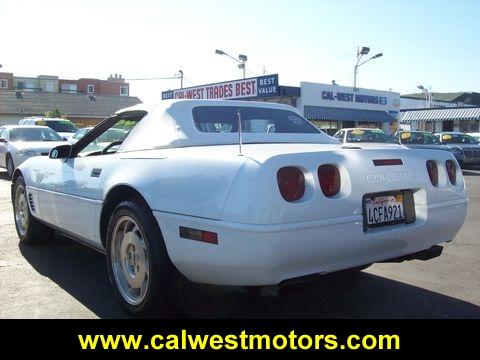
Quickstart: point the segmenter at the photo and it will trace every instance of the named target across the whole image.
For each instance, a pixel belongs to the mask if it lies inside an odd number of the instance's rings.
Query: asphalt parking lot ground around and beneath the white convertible
[[[480,318],[480,168],[464,171],[468,215],[441,257],[374,264],[260,298],[185,290],[182,316],[232,318]],[[20,246],[10,182],[0,171],[0,318],[125,318],[104,256],[66,238]],[[175,315],[172,315],[175,316]]]

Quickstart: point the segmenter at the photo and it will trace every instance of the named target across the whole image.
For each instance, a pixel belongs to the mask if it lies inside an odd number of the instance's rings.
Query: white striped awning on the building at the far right
[[[400,114],[401,122],[444,120],[480,120],[480,107],[409,110]]]

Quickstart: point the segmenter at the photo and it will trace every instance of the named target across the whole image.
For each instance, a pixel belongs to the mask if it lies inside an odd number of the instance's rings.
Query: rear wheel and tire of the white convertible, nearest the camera
[[[125,219],[131,219],[136,223],[135,225],[139,229],[140,236],[143,238],[144,251],[142,254],[145,254],[147,259],[147,265],[144,265],[144,268],[148,267],[148,277],[144,276],[143,280],[146,284],[146,291],[143,297],[141,295],[138,296],[138,303],[132,303],[131,299],[129,301],[128,293],[125,295],[125,290],[123,292],[121,290],[122,288],[125,289],[125,286],[122,287],[122,283],[128,283],[129,280],[127,280],[125,270],[122,273],[119,267],[121,268],[122,264],[125,268],[130,265],[125,265],[129,260],[121,260],[121,256],[118,254],[118,251],[121,250],[117,249],[117,247],[120,248],[117,243],[120,240],[118,240],[118,236],[116,239],[114,234],[119,233],[119,227],[122,225],[122,222],[128,221]],[[126,233],[126,227],[127,225],[122,230],[124,234]],[[134,230],[131,230],[131,232],[133,233]],[[135,231],[137,234],[139,232]],[[123,239],[125,239],[125,236]],[[123,244],[125,241],[121,240],[120,243]],[[128,246],[131,246],[131,244],[122,245],[121,248],[128,248]],[[136,254],[136,249],[135,247],[133,248],[134,254]],[[181,282],[181,275],[170,261],[158,223],[152,214],[152,210],[143,199],[122,201],[115,207],[108,224],[106,250],[108,275],[114,294],[122,307],[130,314],[138,317],[171,317]],[[125,253],[128,253],[128,251],[125,251]],[[133,258],[138,259],[138,256],[134,255]],[[136,268],[135,263],[133,268]],[[133,275],[129,279],[133,281]],[[141,294],[142,291],[139,291]]]

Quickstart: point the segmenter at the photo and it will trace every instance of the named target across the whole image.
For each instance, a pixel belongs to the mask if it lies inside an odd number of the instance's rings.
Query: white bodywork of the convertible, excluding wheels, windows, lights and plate
[[[448,180],[442,164],[454,160],[449,152],[342,149],[323,133],[273,134],[267,140],[265,134],[244,134],[239,156],[238,134],[195,129],[191,110],[203,105],[296,111],[241,101],[159,106],[115,154],[25,162],[19,170],[34,199],[33,215],[102,251],[104,201],[115,187],[129,186],[152,209],[170,259],[183,275],[245,286],[408,255],[451,241],[463,224],[466,189],[459,168],[457,184]],[[262,136],[264,143],[251,143]],[[373,159],[401,159],[403,165],[379,167]],[[438,187],[429,180],[427,160],[440,164]],[[316,172],[322,164],[336,164],[341,173],[341,191],[333,198],[319,186]],[[306,191],[297,202],[280,195],[276,174],[284,166],[304,172]],[[93,169],[101,169],[98,177],[92,177]],[[414,193],[416,221],[364,232],[362,197],[405,189]],[[215,232],[218,245],[181,238],[180,226]]]

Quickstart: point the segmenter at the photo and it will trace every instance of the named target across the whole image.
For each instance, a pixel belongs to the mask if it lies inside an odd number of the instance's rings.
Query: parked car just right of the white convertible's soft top
[[[339,140],[345,146],[355,146],[362,148],[404,148],[396,144],[381,129],[371,128],[345,128],[337,131],[333,137]]]

